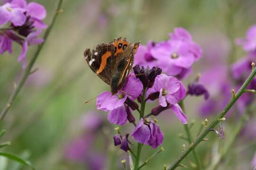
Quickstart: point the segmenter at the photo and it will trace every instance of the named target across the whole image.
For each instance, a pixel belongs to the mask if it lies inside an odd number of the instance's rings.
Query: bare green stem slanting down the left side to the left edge
[[[47,28],[46,30],[46,33],[44,34],[44,37],[43,39],[45,40],[44,42],[42,42],[38,48],[37,48],[37,51],[36,53],[34,54],[34,56],[32,57],[32,59],[29,61],[28,65],[27,65],[27,68],[25,69],[25,72],[24,74],[22,75],[19,83],[18,83],[18,86],[17,88],[14,90],[14,92],[11,94],[6,106],[4,107],[4,109],[2,110],[1,114],[0,114],[0,121],[2,121],[5,117],[5,115],[8,113],[8,111],[10,110],[10,108],[12,107],[13,105],[13,102],[15,101],[18,93],[20,92],[21,88],[23,87],[23,85],[25,84],[26,80],[27,80],[27,77],[30,75],[30,72],[31,72],[31,69],[32,67],[34,66],[36,60],[37,60],[37,57],[40,53],[40,51],[42,50],[45,42],[46,42],[46,39],[48,37],[48,35],[50,34],[53,26],[54,26],[54,23],[55,23],[55,20],[56,20],[56,17],[58,16],[59,14],[59,10],[61,9],[61,5],[62,5],[62,2],[63,0],[58,0],[56,2],[56,10],[55,10],[55,15],[53,16],[52,20],[51,20],[51,23],[49,24],[49,27]]]

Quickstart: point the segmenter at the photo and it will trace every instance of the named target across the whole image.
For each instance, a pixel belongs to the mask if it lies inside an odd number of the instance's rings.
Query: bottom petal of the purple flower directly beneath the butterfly
[[[125,125],[127,122],[127,112],[124,106],[111,110],[108,114],[108,119],[115,125]]]

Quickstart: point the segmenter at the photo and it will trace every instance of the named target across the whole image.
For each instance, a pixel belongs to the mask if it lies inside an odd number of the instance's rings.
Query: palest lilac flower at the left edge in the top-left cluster
[[[0,25],[10,21],[14,26],[22,26],[26,21],[24,12],[26,9],[19,8],[15,3],[6,3],[0,6]]]

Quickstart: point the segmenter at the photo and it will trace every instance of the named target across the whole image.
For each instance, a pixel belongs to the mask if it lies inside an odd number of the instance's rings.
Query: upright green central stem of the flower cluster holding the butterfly
[[[146,96],[146,88],[143,88],[139,119],[144,117],[145,104],[146,104],[145,96]],[[140,144],[140,143],[138,143],[138,145],[137,145],[137,155],[136,155],[136,159],[135,159],[134,170],[138,170],[139,159],[140,159],[140,153],[141,153],[142,146],[143,146],[143,144]]]

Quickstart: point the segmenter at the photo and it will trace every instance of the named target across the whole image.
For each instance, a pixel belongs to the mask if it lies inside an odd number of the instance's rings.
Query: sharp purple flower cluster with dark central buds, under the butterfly
[[[149,115],[157,116],[161,111],[171,109],[178,119],[184,124],[187,123],[187,116],[183,113],[178,105],[185,94],[186,90],[182,82],[174,76],[161,74],[160,68],[149,67],[140,68],[136,65],[134,68],[135,75],[130,75],[126,79],[125,85],[116,94],[103,92],[97,98],[97,109],[109,111],[108,119],[116,125],[125,125],[128,121],[136,127],[131,136],[142,144],[147,144],[156,148],[163,143],[164,134],[160,127],[148,116],[141,115],[137,102],[153,101],[158,99],[159,106],[164,109],[153,108]],[[141,119],[136,125],[136,119],[133,116],[133,110],[138,110]],[[157,114],[156,114],[157,112]],[[114,144],[119,145],[124,151],[129,150],[128,134],[121,136],[120,133],[115,135]]]

